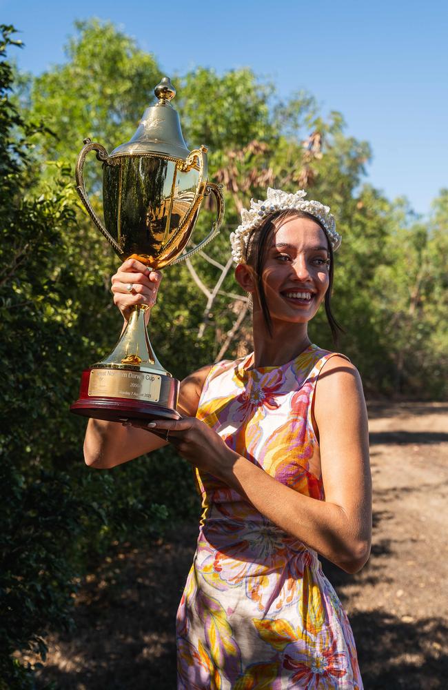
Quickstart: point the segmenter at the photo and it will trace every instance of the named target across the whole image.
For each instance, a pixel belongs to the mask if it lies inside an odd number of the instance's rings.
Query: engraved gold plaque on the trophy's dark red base
[[[143,371],[92,369],[89,395],[159,402],[161,376]]]

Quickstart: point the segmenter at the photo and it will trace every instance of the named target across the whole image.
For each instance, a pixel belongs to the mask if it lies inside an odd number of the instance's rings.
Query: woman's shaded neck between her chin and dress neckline
[[[254,319],[254,367],[286,364],[310,344],[307,324],[272,324],[271,336],[264,322]]]

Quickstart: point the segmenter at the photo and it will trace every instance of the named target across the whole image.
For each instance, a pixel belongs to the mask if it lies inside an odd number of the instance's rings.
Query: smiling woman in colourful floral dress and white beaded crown
[[[356,368],[307,334],[324,301],[338,328],[340,236],[327,206],[268,189],[231,240],[254,353],[187,377],[177,422],[90,420],[85,460],[112,467],[170,442],[196,467],[203,516],[177,616],[180,689],[359,689],[352,631],[317,555],[349,573],[368,558],[367,414]],[[134,260],[119,268],[124,319],[154,304],[160,278]]]

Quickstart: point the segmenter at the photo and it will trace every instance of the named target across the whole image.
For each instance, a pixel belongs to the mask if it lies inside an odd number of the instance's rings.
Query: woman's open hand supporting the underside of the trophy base
[[[196,417],[156,420],[142,428],[172,443],[185,460],[215,477],[222,477],[223,470],[228,469],[234,460],[231,449],[221,436]]]

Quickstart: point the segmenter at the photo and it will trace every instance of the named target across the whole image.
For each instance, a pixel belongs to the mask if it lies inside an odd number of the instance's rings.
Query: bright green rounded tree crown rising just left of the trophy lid
[[[41,141],[49,159],[73,159],[85,137],[110,150],[130,139],[161,77],[154,57],[112,23],[77,21],[75,28],[65,46],[68,61],[32,87],[34,115],[55,135]]]

